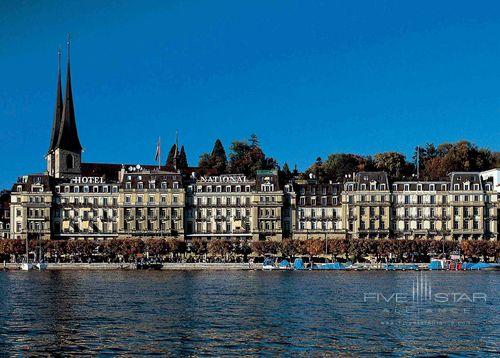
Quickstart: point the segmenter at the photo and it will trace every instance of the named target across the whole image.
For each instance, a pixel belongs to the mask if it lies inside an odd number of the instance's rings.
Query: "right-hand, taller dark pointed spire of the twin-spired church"
[[[61,116],[61,126],[56,149],[65,149],[72,152],[81,152],[82,146],[78,138],[76,128],[75,108],[73,105],[73,92],[71,91],[71,70],[70,70],[70,39],[68,36],[68,64],[66,73],[66,93],[64,96],[64,107]]]

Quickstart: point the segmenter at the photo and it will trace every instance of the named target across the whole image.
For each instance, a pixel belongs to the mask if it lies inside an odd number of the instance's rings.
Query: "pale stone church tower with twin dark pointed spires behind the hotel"
[[[47,154],[47,170],[56,178],[71,178],[81,174],[82,146],[76,128],[73,92],[71,90],[70,42],[68,39],[68,63],[66,72],[66,93],[62,111],[60,106],[60,70],[58,74],[58,90],[56,98],[56,113],[52,127],[52,137]],[[60,114],[60,119],[58,116]]]

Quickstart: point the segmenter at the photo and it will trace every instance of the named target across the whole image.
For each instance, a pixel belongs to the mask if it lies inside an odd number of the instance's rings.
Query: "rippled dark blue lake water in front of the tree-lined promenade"
[[[0,272],[0,351],[493,355],[500,352],[499,277],[498,272]]]

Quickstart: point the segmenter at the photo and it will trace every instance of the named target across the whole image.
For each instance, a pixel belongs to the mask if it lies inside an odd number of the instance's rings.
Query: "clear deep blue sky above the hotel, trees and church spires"
[[[426,142],[500,149],[495,1],[2,1],[0,187],[44,170],[67,32],[85,161],[152,163],[176,129],[190,164],[254,132],[299,169]]]

